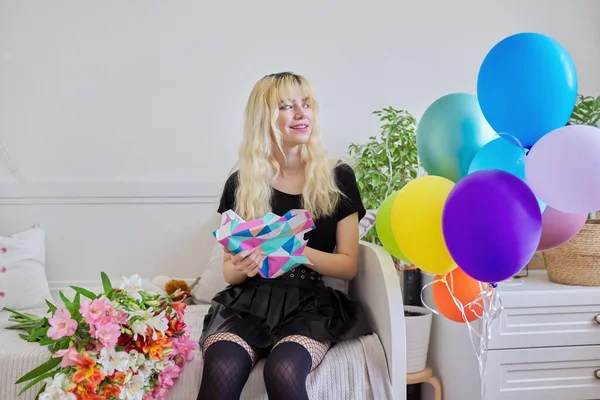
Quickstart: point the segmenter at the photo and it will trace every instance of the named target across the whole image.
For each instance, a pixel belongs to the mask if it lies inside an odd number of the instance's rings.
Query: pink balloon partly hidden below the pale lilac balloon
[[[571,214],[547,206],[542,213],[542,239],[537,251],[549,250],[571,240],[579,233],[588,214]]]

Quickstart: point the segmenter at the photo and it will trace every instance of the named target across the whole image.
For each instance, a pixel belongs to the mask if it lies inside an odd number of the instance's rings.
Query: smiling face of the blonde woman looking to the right
[[[310,138],[313,112],[304,94],[294,90],[279,106],[277,127],[284,147],[306,144]]]

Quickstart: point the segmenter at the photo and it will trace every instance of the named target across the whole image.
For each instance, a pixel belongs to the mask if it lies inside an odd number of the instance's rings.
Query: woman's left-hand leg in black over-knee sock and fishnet
[[[239,400],[258,359],[238,335],[215,333],[202,345],[204,368],[197,400]]]

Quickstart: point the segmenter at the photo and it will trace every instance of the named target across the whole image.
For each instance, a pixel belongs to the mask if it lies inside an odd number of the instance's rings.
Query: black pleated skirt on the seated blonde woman
[[[338,343],[373,333],[361,305],[322,281],[254,277],[217,293],[204,318],[200,345],[218,332],[269,349],[290,335]]]

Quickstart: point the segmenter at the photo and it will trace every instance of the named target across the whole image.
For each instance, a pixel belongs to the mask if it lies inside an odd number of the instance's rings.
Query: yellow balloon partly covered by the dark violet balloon
[[[429,175],[407,183],[392,206],[392,232],[406,257],[430,274],[456,268],[442,231],[442,212],[454,182]]]

